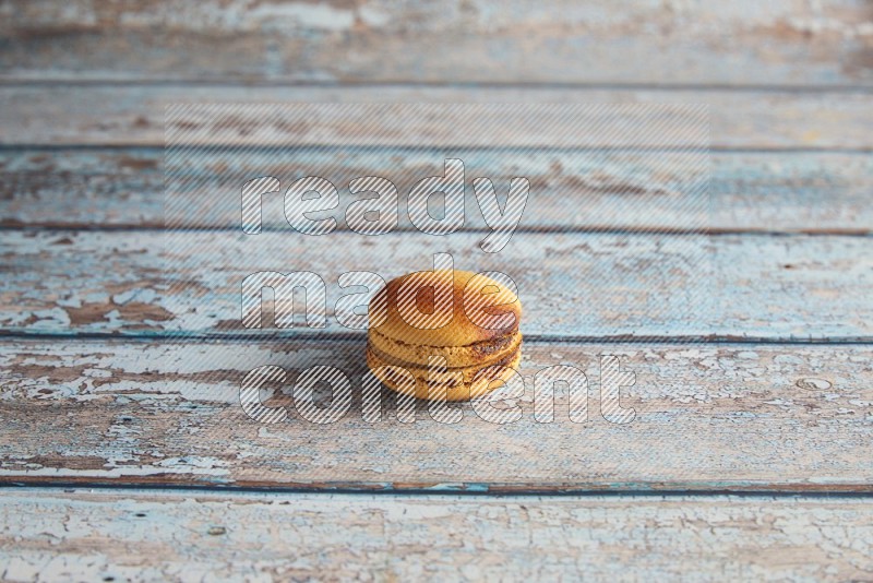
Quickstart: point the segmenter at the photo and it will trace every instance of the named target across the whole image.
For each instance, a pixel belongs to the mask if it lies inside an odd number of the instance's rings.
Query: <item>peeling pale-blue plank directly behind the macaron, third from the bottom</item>
[[[533,336],[847,341],[873,332],[868,237],[516,233],[485,253],[486,235],[8,230],[0,325],[23,334],[348,334],[334,317],[351,293],[337,284],[342,273],[388,279],[432,269],[433,253],[447,252],[456,269],[511,276]],[[299,301],[295,328],[243,329],[241,282],[264,270],[322,277],[326,328],[304,328]]]

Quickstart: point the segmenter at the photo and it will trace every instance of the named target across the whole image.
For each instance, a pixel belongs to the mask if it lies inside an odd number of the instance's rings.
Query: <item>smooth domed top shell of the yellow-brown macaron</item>
[[[423,346],[467,346],[516,333],[522,304],[513,290],[486,275],[434,270],[388,282],[370,300],[371,325],[379,323],[382,313],[384,322],[374,330],[387,338]]]

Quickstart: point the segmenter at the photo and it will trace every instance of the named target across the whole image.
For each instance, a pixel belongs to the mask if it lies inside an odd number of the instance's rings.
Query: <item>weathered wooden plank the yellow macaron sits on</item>
[[[469,404],[447,425],[419,403],[399,423],[385,390],[364,420],[363,341],[28,341],[0,343],[0,479],[375,490],[873,491],[873,346],[528,342],[514,423]],[[619,355],[631,423],[600,416],[599,355]],[[588,377],[587,423],[559,389],[553,423],[534,417],[533,379],[564,364]],[[286,407],[264,425],[240,383],[280,366],[263,398]],[[300,370],[344,371],[354,398],[331,424],[295,408]],[[272,396],[270,396],[272,394]],[[492,417],[493,418],[493,417]]]

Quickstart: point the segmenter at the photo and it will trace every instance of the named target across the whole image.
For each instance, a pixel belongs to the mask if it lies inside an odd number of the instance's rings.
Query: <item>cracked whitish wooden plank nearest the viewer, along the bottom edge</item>
[[[864,580],[868,500],[7,489],[7,581]]]

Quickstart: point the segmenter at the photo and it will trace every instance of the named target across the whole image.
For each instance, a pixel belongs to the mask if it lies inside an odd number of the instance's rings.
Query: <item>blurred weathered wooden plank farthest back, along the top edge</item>
[[[873,83],[863,0],[624,0],[457,5],[386,0],[3,9],[12,79],[268,82]]]

